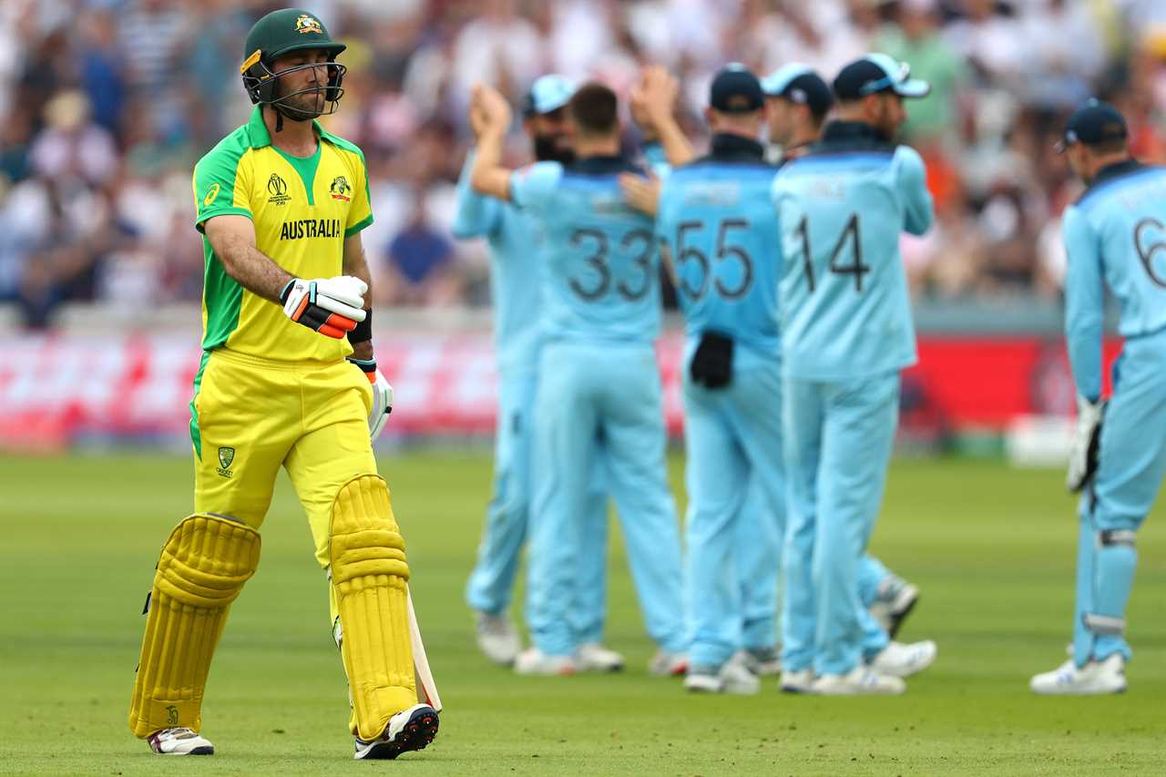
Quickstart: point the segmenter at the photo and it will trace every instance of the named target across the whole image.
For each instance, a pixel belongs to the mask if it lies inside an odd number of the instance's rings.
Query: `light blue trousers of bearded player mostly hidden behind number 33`
[[[510,607],[519,556],[531,519],[534,370],[499,376],[498,429],[494,436],[493,496],[478,545],[478,560],[465,587],[475,610],[498,614]],[[580,559],[578,587],[570,621],[582,642],[600,642],[606,603],[607,496],[598,463],[592,468],[588,506],[588,548]]]

